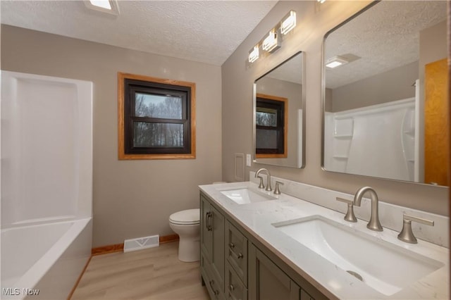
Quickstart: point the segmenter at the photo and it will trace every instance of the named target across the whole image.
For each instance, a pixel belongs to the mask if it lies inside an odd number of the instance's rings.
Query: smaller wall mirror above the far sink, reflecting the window
[[[304,167],[304,55],[254,82],[254,162]]]

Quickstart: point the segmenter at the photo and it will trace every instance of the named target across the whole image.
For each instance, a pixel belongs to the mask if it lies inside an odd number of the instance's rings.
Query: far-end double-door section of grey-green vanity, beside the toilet
[[[203,195],[201,213],[201,275],[211,299],[224,299],[224,216]]]

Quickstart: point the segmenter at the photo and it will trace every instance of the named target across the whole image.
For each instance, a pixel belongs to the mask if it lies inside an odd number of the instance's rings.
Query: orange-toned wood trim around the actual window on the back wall
[[[190,122],[191,122],[191,151],[189,154],[125,154],[125,99],[124,80],[142,80],[157,82],[166,85],[179,85],[190,87]],[[196,84],[180,80],[168,80],[144,75],[134,75],[118,72],[118,159],[119,160],[145,160],[145,159],[194,159],[196,158]]]

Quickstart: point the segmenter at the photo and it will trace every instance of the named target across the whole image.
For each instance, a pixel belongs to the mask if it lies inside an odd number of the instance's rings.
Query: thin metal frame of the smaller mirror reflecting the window
[[[295,58],[295,56],[301,55],[301,60],[302,60],[302,80],[300,82],[300,84],[302,85],[302,94],[301,94],[301,108],[302,108],[302,130],[301,132],[299,132],[299,134],[301,135],[301,139],[302,139],[302,146],[301,146],[301,151],[302,151],[302,163],[299,165],[299,162],[297,165],[279,165],[277,163],[266,163],[265,161],[261,161],[262,159],[273,159],[273,158],[257,158],[257,154],[256,154],[256,146],[257,146],[257,130],[256,130],[256,120],[257,120],[257,81],[259,81],[261,78],[265,77],[266,75],[268,75],[269,73],[271,73],[273,70],[276,70],[278,67],[280,67],[280,65],[283,65],[284,63],[287,63],[288,61],[290,61],[292,58]],[[297,168],[297,169],[302,169],[305,168],[305,89],[306,89],[306,68],[305,68],[305,52],[304,51],[297,51],[295,54],[292,54],[292,56],[284,59],[281,63],[279,63],[278,65],[276,65],[276,67],[272,68],[271,70],[269,70],[268,72],[264,73],[264,75],[261,75],[260,77],[258,77],[256,80],[254,80],[254,85],[253,85],[253,92],[252,92],[252,101],[253,101],[253,106],[252,106],[252,154],[253,154],[253,163],[258,163],[261,165],[276,165],[279,167],[285,167],[285,168]],[[288,106],[288,110],[290,109],[290,106]],[[288,141],[287,141],[288,142]],[[277,158],[276,158],[277,159]]]

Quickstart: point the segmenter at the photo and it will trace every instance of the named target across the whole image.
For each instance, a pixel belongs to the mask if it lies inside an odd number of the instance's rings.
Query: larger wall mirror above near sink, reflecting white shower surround
[[[447,185],[447,1],[377,1],[323,44],[323,169]]]

